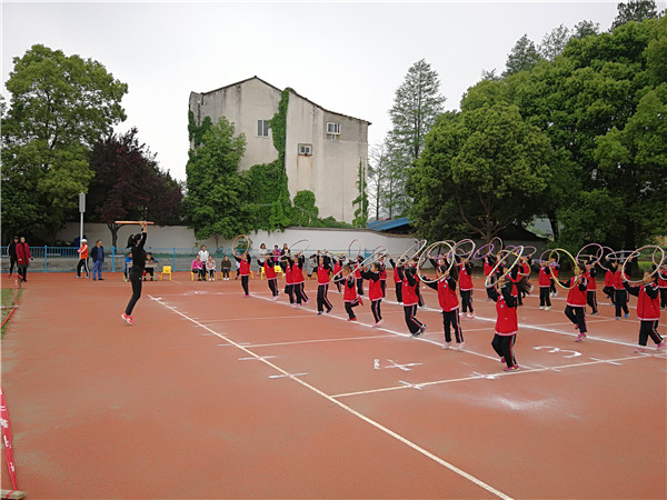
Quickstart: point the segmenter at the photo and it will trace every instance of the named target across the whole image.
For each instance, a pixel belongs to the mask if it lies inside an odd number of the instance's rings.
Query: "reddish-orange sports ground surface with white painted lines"
[[[130,327],[119,274],[29,278],[2,340],[29,498],[667,497],[666,354],[634,353],[633,309],[601,304],[575,343],[561,298],[528,298],[506,373],[480,282],[456,351],[430,289],[412,339],[392,283],[374,329],[332,291],[317,317],[313,281],[296,310],[266,281],[243,299],[177,273],[145,283]]]

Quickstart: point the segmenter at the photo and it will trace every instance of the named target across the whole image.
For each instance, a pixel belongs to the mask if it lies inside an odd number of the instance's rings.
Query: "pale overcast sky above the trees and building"
[[[369,147],[390,129],[396,89],[419,59],[458,109],[481,70],[505,69],[524,33],[536,43],[581,20],[607,30],[616,1],[598,2],[8,2],[2,82],[36,43],[102,63],[128,83],[128,119],[163,170],[186,178],[188,98],[252,76],[331,111],[370,121]],[[657,2],[660,9],[665,1]],[[4,86],[2,93],[9,96]]]

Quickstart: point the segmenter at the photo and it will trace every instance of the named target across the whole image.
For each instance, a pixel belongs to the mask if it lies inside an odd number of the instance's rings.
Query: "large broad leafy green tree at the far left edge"
[[[94,60],[41,44],[13,64],[2,121],[2,221],[6,229],[54,233],[93,177],[90,148],[126,119],[127,84]],[[20,200],[26,210],[17,210]]]

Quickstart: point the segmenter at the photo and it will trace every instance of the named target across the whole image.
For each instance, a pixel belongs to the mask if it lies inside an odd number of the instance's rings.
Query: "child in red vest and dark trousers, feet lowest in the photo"
[[[500,362],[507,364],[505,371],[517,371],[519,366],[514,354],[519,320],[517,318],[517,298],[511,294],[514,283],[506,279],[498,292],[498,283],[491,289],[491,300],[496,302],[496,330],[491,347],[500,357]]]

